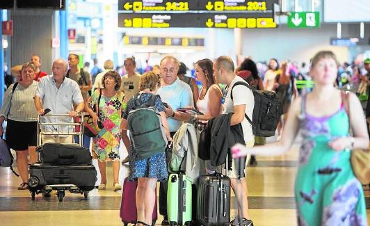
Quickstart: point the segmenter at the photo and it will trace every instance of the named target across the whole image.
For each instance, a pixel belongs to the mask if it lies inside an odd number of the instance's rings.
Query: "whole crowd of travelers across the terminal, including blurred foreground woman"
[[[198,60],[193,70],[189,70],[177,58],[164,56],[151,71],[139,74],[132,56],[124,60],[124,75],[113,70],[112,60],[104,62],[104,70],[99,68],[97,60],[90,72],[78,65],[79,56],[70,54],[67,60],[55,60],[52,73],[47,75],[40,70],[40,56],[34,54],[29,63],[12,68],[16,79],[15,83],[8,84],[5,92],[0,123],[7,121],[6,142],[17,154],[17,169],[22,178],[19,190],[28,188],[28,165],[37,161],[38,115],[44,115],[45,109],[49,109],[51,114],[69,115],[59,119],[60,122],[73,122],[79,113],[86,112],[92,116],[96,127],[102,127],[93,139],[84,135],[82,142],[83,147],[91,147],[93,158],[98,160],[102,177],[99,189],[108,187],[106,162],[111,161],[113,191],[121,190],[120,166],[128,162],[129,180],[138,181],[138,225],[152,224],[157,181],[160,182],[162,225],[169,225],[168,165],[172,155],[169,147],[175,133],[183,122],[191,122],[198,129],[219,115],[230,115],[227,127],[240,125],[243,134],[243,145],[234,143],[236,146],[232,149],[234,158],[246,160],[239,161],[241,166],[238,167],[243,172],[237,172],[235,161],[230,161],[231,165],[225,168],[200,160],[200,174],[227,171],[241,219],[233,220],[232,225],[253,225],[248,209],[248,186],[252,185],[247,186],[244,179],[248,163],[257,164],[255,155],[287,152],[298,131],[303,137],[295,186],[298,224],[339,225],[339,220],[345,220],[348,224],[344,225],[352,225],[350,222],[356,220],[353,225],[367,225],[362,185],[351,170],[350,152],[344,150],[365,149],[369,145],[364,111],[369,118],[370,58],[361,65],[339,65],[332,52],[320,51],[309,64],[298,67],[289,60],[279,62],[271,58],[264,64],[255,63],[249,57],[240,65],[234,65],[229,56],[220,56],[214,60]],[[193,71],[193,76],[189,71]],[[307,86],[298,87],[297,81],[307,81]],[[252,118],[256,104],[254,93],[247,86],[234,86],[240,82],[248,83],[255,90],[271,90],[278,95],[282,117],[276,143],[266,144],[264,136],[254,135],[247,119]],[[311,82],[314,86],[309,85]],[[352,92],[344,95],[343,90]],[[351,114],[344,107],[346,102],[351,103]],[[129,115],[133,109],[147,103],[156,108],[169,145],[143,159],[129,133]],[[47,122],[49,118],[42,120]],[[348,134],[350,129],[351,135]],[[200,132],[201,129],[198,138]],[[2,135],[3,127],[0,127]],[[125,159],[119,153],[121,140],[128,152]],[[42,143],[51,142],[77,143],[78,139],[73,136],[42,137]],[[320,168],[338,169],[325,174],[318,170]],[[339,206],[341,210],[337,209]]]

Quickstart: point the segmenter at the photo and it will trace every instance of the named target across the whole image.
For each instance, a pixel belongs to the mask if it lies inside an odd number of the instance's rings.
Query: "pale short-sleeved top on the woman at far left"
[[[18,83],[14,93],[12,93],[13,86],[14,84],[10,85],[8,90],[5,92],[5,98],[3,106],[1,106],[0,115],[17,122],[37,121],[38,112],[36,111],[33,97],[38,88],[38,82],[33,81],[33,83],[31,83],[27,88],[24,88],[20,83]]]

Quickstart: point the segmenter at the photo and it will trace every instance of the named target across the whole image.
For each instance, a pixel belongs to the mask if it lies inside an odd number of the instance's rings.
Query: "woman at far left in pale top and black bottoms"
[[[9,86],[4,95],[3,106],[0,111],[0,124],[4,120],[8,122],[6,129],[6,143],[17,154],[17,169],[22,178],[19,190],[28,189],[27,181],[28,156],[30,163],[36,161],[35,146],[37,145],[36,127],[38,113],[33,104],[33,97],[38,88],[38,82],[34,81],[36,67],[33,63],[24,63],[18,83]],[[13,87],[17,84],[14,92]],[[3,127],[0,127],[0,136],[3,135]]]

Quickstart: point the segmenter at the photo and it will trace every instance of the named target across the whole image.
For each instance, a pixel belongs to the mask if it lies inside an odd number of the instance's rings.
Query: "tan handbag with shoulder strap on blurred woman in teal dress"
[[[344,101],[344,108],[350,116],[348,95],[344,92],[341,93]],[[351,150],[351,166],[353,173],[361,184],[370,184],[370,147],[367,150],[353,149]]]

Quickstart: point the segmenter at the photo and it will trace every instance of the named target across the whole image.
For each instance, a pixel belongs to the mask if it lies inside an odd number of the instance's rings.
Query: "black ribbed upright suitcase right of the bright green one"
[[[199,177],[198,225],[230,225],[230,178],[216,173]]]

